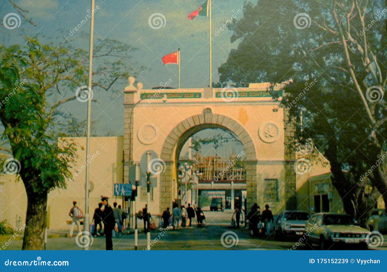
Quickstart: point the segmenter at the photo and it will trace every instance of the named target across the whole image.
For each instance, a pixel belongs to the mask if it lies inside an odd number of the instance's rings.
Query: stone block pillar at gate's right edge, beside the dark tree
[[[296,160],[296,152],[293,148],[293,138],[296,133],[295,126],[293,125],[295,120],[289,118],[289,111],[284,110],[284,129],[285,129],[285,142],[284,142],[284,171],[285,171],[285,199],[286,210],[297,209],[297,188],[296,188],[296,172],[293,169],[294,162]]]

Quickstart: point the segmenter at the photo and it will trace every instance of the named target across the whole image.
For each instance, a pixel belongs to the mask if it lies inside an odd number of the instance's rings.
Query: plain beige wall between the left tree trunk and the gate
[[[68,138],[70,140],[71,138]],[[48,195],[48,224],[50,230],[68,229],[66,220],[70,219],[68,212],[72,207],[72,201],[77,201],[78,206],[85,212],[85,175],[86,170],[86,138],[75,138],[78,146],[78,159],[76,165],[70,171],[74,175],[73,181],[67,181],[66,189],[55,189]],[[90,193],[89,215],[90,221],[94,208],[98,207],[101,195],[109,196],[110,205],[113,205],[113,184],[122,183],[122,137],[93,137],[90,141],[90,181],[94,189]],[[78,173],[75,175],[75,173]],[[118,197],[118,204],[122,198]]]

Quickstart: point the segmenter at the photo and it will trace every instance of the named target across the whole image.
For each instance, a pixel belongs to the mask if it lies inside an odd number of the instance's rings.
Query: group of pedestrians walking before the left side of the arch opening
[[[170,208],[167,207],[161,215],[162,221],[160,222],[160,227],[166,229],[168,226],[172,226],[173,229],[178,230],[179,227],[188,227],[192,226],[192,220],[197,218],[197,227],[203,226],[203,220],[205,219],[204,213],[200,207],[194,209],[190,203],[188,203],[187,207],[184,205],[180,206],[177,203],[173,204],[172,213],[170,212]]]

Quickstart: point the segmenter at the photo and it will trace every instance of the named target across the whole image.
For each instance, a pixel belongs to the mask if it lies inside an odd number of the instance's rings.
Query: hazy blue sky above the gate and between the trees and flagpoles
[[[23,9],[29,10],[27,17],[37,24],[31,26],[22,21],[20,28],[5,32],[6,44],[23,44],[23,33],[38,37],[57,37],[60,30],[70,31],[87,15],[91,1],[88,0],[14,0]],[[134,60],[144,67],[137,77],[144,84],[144,89],[159,86],[172,79],[171,86],[177,87],[177,65],[163,65],[161,58],[181,50],[181,87],[201,88],[209,84],[209,19],[198,16],[188,20],[190,12],[198,9],[204,0],[96,0],[99,9],[95,12],[94,38],[111,38],[138,48]],[[231,44],[231,31],[219,28],[233,16],[241,18],[238,12],[244,0],[213,0],[212,1],[212,37],[213,37],[213,81],[219,77],[217,68],[226,61],[231,48],[236,48],[238,41]],[[255,4],[256,1],[253,1]],[[15,12],[8,1],[0,9],[1,18],[9,12]],[[164,26],[152,29],[148,19],[152,14],[160,13],[165,17]],[[89,31],[87,22],[80,31]],[[80,34],[74,33],[74,37]],[[214,33],[218,31],[219,34]],[[7,35],[9,34],[9,35]],[[41,38],[41,40],[43,40]],[[43,40],[44,42],[44,40]],[[54,41],[55,42],[55,41]],[[59,43],[59,41],[58,41]],[[80,45],[88,48],[88,42]],[[195,71],[194,73],[192,71]],[[118,94],[111,95],[96,91],[94,98],[99,103],[92,105],[92,119],[97,119],[95,132],[103,135],[110,132],[113,135],[123,134],[123,96],[120,90],[127,85],[122,81],[114,86]],[[85,103],[86,104],[86,103]],[[85,108],[79,108],[76,102],[63,106],[78,119],[86,119]]]

